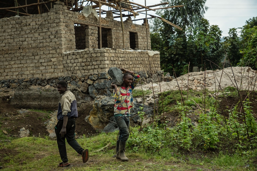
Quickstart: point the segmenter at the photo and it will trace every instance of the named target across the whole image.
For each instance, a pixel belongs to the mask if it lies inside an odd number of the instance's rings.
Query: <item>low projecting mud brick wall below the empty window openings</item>
[[[149,56],[150,51],[120,49],[92,49],[64,52],[62,55],[63,71],[67,74],[108,72],[109,68],[127,68],[129,70],[160,71],[160,54]],[[152,51],[151,51],[152,52]]]

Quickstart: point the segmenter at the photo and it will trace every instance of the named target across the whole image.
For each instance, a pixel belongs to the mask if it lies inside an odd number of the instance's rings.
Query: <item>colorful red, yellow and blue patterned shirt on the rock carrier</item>
[[[115,90],[113,90],[113,97],[115,99],[114,113],[130,114],[130,110],[134,109],[132,90],[136,87],[141,77],[136,73],[133,73],[132,75],[134,79],[130,86],[127,88],[118,86],[117,94],[115,93]]]

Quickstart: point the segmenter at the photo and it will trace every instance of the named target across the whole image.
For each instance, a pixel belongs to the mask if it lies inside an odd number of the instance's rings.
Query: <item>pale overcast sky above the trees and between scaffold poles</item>
[[[159,4],[160,1],[146,0],[146,6]],[[134,2],[145,5],[145,0],[134,0]],[[257,0],[207,0],[205,5],[209,7],[205,12],[205,19],[210,25],[218,25],[222,36],[228,36],[229,29],[242,27],[245,21],[257,17]],[[145,18],[145,15],[136,17],[139,18]]]

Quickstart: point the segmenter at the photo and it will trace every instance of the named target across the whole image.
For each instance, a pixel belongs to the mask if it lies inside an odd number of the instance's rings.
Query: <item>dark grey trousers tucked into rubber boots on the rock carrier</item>
[[[126,142],[129,138],[129,116],[117,116],[115,121],[120,129],[118,141]]]

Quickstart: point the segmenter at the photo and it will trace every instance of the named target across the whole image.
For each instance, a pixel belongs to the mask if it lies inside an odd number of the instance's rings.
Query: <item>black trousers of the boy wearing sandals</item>
[[[65,145],[65,138],[68,142],[68,144],[75,150],[77,153],[82,154],[83,148],[80,147],[78,142],[75,140],[75,128],[76,128],[76,119],[68,119],[68,123],[66,125],[66,134],[64,137],[61,137],[61,129],[63,126],[63,120],[59,120],[56,128],[55,128],[55,134],[57,138],[57,144],[59,153],[61,156],[61,160],[63,162],[67,162],[67,152],[66,152],[66,145]]]

